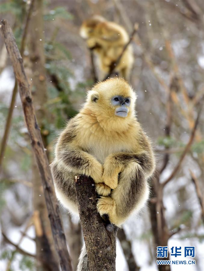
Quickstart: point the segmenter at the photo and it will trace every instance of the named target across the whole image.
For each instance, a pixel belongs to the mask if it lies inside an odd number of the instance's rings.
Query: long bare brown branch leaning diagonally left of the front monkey
[[[23,59],[18,50],[12,30],[6,20],[2,20],[1,32],[5,38],[6,49],[11,59],[14,74],[18,82],[25,121],[42,179],[48,216],[51,222],[56,251],[60,259],[60,266],[62,271],[69,271],[72,270],[71,260],[66,246],[59,206],[54,192],[52,175],[48,166],[48,159],[44,150],[40,129],[32,104],[32,96],[28,80],[23,67]]]

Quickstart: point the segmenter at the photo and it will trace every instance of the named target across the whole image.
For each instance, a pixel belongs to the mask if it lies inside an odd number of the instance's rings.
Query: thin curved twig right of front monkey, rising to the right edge
[[[202,109],[202,108],[201,108],[201,109]],[[183,153],[181,154],[181,157],[180,157],[180,159],[179,159],[179,161],[178,161],[178,164],[176,165],[175,169],[172,171],[171,175],[170,175],[170,176],[162,183],[163,186],[165,186],[169,181],[171,181],[171,179],[174,178],[174,176],[177,174],[177,172],[178,172],[178,170],[180,169],[181,164],[182,164],[182,162],[183,162],[183,160],[184,160],[184,158],[185,158],[187,152],[188,152],[189,149],[190,149],[191,144],[193,143],[193,139],[194,139],[194,137],[195,137],[196,129],[197,129],[197,126],[198,126],[198,121],[199,121],[199,116],[200,116],[201,109],[200,109],[199,112],[198,112],[196,121],[195,121],[195,123],[194,123],[194,127],[193,127],[193,129],[192,129],[192,131],[191,131],[190,139],[189,139],[189,141],[188,141],[188,143],[187,143],[187,145],[186,145],[186,147],[185,147]]]

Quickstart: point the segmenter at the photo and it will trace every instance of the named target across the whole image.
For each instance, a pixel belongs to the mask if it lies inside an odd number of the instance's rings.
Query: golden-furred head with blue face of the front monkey
[[[115,77],[96,84],[88,93],[86,105],[100,123],[109,122],[116,127],[122,122],[128,124],[132,119],[135,100],[131,86],[124,79]]]

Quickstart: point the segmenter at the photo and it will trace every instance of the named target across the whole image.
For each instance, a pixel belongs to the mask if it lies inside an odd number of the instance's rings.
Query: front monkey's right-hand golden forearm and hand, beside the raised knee
[[[110,154],[104,162],[102,181],[111,189],[115,189],[118,186],[118,175],[122,170],[122,164],[119,163],[112,154]]]

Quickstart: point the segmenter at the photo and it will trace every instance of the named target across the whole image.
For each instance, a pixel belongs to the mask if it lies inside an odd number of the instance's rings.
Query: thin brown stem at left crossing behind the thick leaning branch
[[[27,36],[27,32],[28,32],[28,25],[29,25],[30,15],[31,15],[31,11],[32,11],[32,8],[33,8],[33,1],[34,0],[31,1],[30,6],[29,6],[25,26],[24,26],[24,29],[23,29],[23,36],[22,36],[21,44],[20,44],[20,54],[21,54],[22,57],[23,57],[23,52],[24,52],[24,48],[25,48],[25,42],[26,42],[26,36]],[[4,134],[3,134],[2,142],[1,142],[0,168],[1,168],[1,165],[2,165],[2,160],[3,160],[3,157],[4,157],[6,144],[7,144],[7,140],[8,140],[8,135],[9,135],[10,127],[11,127],[11,120],[12,120],[12,115],[13,115],[14,106],[15,106],[15,102],[16,102],[17,90],[18,90],[18,85],[17,85],[17,81],[15,80],[15,85],[14,85],[14,89],[13,89],[13,93],[12,93],[11,103],[10,103],[10,107],[9,107],[9,110],[8,110],[8,116],[7,116],[7,119],[6,119],[5,130],[4,130]]]

